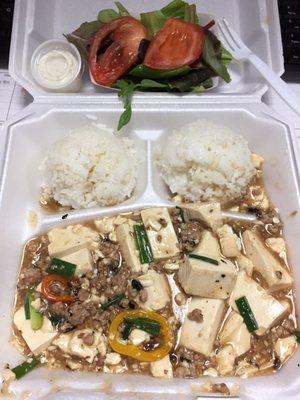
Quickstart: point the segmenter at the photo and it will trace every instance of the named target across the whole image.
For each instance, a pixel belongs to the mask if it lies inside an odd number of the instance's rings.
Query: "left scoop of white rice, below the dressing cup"
[[[74,209],[109,206],[130,197],[137,155],[130,139],[89,124],[56,142],[41,165],[44,192]]]

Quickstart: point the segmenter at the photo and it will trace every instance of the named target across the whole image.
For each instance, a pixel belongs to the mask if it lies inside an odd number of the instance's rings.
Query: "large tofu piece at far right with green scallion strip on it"
[[[251,279],[245,271],[240,271],[235,287],[229,299],[229,305],[238,312],[235,301],[245,296],[258,324],[257,335],[263,335],[268,329],[279,322],[289,311],[287,304],[280,303],[267,293],[257,282]]]

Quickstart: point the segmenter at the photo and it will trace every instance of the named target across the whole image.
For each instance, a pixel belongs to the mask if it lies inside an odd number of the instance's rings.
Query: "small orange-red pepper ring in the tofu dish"
[[[53,292],[53,286],[59,286],[62,289],[62,293],[69,286],[69,280],[62,276],[50,274],[46,275],[42,280],[42,293],[44,297],[49,301],[61,301],[63,303],[71,303],[74,301],[74,297],[70,294],[57,294]]]

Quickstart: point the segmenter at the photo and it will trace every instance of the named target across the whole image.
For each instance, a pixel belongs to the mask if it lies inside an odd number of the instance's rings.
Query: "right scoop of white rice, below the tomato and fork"
[[[171,192],[189,201],[235,199],[255,174],[246,140],[206,120],[174,130],[156,155]]]

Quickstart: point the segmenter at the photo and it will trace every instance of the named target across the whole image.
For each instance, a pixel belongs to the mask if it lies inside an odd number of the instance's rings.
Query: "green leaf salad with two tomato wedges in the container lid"
[[[214,77],[230,82],[232,56],[210,30],[213,20],[200,25],[195,4],[173,0],[139,18],[115,5],[65,37],[87,60],[93,83],[119,89],[118,130],[131,118],[134,91],[201,93]]]

